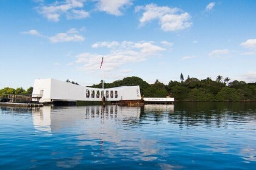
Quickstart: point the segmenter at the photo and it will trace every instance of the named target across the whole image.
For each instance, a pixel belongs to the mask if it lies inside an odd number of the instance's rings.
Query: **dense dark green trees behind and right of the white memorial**
[[[113,83],[104,83],[105,88],[118,86],[140,86],[142,97],[174,97],[176,101],[256,101],[256,83],[232,81],[221,75],[216,80],[207,77],[204,80],[190,78],[181,81],[169,81],[168,84],[156,80],[149,84],[139,77],[126,77]],[[102,81],[91,87],[102,88]]]

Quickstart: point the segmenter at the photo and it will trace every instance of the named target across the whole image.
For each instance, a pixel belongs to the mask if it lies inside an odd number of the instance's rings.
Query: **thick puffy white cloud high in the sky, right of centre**
[[[192,25],[192,22],[189,21],[191,16],[178,8],[158,7],[155,4],[137,6],[135,8],[135,12],[140,12],[141,10],[144,11],[143,16],[140,18],[141,25],[157,19],[161,29],[165,32],[188,29]]]

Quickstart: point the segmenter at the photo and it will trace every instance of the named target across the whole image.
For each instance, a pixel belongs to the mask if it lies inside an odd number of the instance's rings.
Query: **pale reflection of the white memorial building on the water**
[[[35,129],[38,131],[59,131],[60,129],[76,126],[78,121],[94,120],[104,123],[105,120],[115,119],[119,123],[129,123],[140,117],[140,107],[119,106],[86,106],[86,107],[54,107],[44,106],[32,110]]]

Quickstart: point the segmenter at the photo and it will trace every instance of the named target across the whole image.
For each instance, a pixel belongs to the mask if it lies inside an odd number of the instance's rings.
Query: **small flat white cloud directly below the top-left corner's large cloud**
[[[52,43],[84,41],[84,36],[78,35],[77,33],[79,32],[76,29],[70,29],[66,33],[57,33],[55,36],[49,37],[49,41]]]

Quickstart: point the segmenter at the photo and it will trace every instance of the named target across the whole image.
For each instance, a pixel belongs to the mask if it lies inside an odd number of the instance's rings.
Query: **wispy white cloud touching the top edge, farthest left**
[[[37,10],[49,21],[58,22],[61,15],[66,15],[67,19],[82,19],[89,16],[89,13],[83,10],[84,3],[85,0],[56,1],[50,5],[37,7]]]

